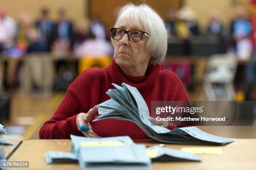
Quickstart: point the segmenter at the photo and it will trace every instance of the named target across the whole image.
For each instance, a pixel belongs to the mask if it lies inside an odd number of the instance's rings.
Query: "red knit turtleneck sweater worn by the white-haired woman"
[[[80,112],[88,112],[93,106],[110,97],[105,93],[115,89],[111,83],[121,85],[125,82],[136,87],[151,111],[151,101],[189,100],[182,82],[174,72],[160,70],[160,66],[148,67],[142,77],[125,76],[120,67],[112,61],[104,69],[90,68],[79,75],[69,86],[67,94],[50,120],[46,121],[39,132],[40,139],[69,139],[70,134],[83,134],[77,130],[76,117]],[[92,120],[98,115],[96,112]],[[148,136],[133,122],[106,119],[90,122],[92,130],[101,137],[129,135],[132,139],[145,139]],[[175,126],[169,127],[174,129]]]

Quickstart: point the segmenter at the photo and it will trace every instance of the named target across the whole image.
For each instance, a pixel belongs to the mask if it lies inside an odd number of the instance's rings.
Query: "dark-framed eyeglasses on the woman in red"
[[[126,30],[123,30],[121,28],[111,28],[110,31],[111,31],[111,37],[114,40],[121,40],[125,34],[128,35],[128,39],[131,42],[139,42],[139,41],[141,41],[141,39],[142,39],[144,34],[147,37],[149,37],[147,32],[140,31],[140,30],[129,30],[129,31],[126,31]]]

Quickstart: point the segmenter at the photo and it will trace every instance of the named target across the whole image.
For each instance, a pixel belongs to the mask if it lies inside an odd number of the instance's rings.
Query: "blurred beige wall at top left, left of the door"
[[[60,7],[67,10],[72,20],[79,20],[87,15],[87,0],[0,0],[0,6],[5,6],[8,14],[15,19],[22,10],[37,18],[41,7],[49,8],[52,19],[56,18],[56,12]]]

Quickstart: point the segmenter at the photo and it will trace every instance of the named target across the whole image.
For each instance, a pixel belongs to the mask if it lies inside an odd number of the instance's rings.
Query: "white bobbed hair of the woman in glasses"
[[[167,51],[167,33],[159,14],[146,4],[128,3],[121,8],[114,28],[118,28],[124,21],[132,23],[148,33],[146,48],[151,55],[149,65],[162,62]],[[113,39],[111,42],[114,45]]]

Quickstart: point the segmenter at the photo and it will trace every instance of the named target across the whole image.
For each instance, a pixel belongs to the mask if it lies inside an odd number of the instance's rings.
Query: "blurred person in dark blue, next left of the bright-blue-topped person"
[[[207,36],[211,39],[217,39],[223,36],[223,24],[216,10],[210,11]]]

